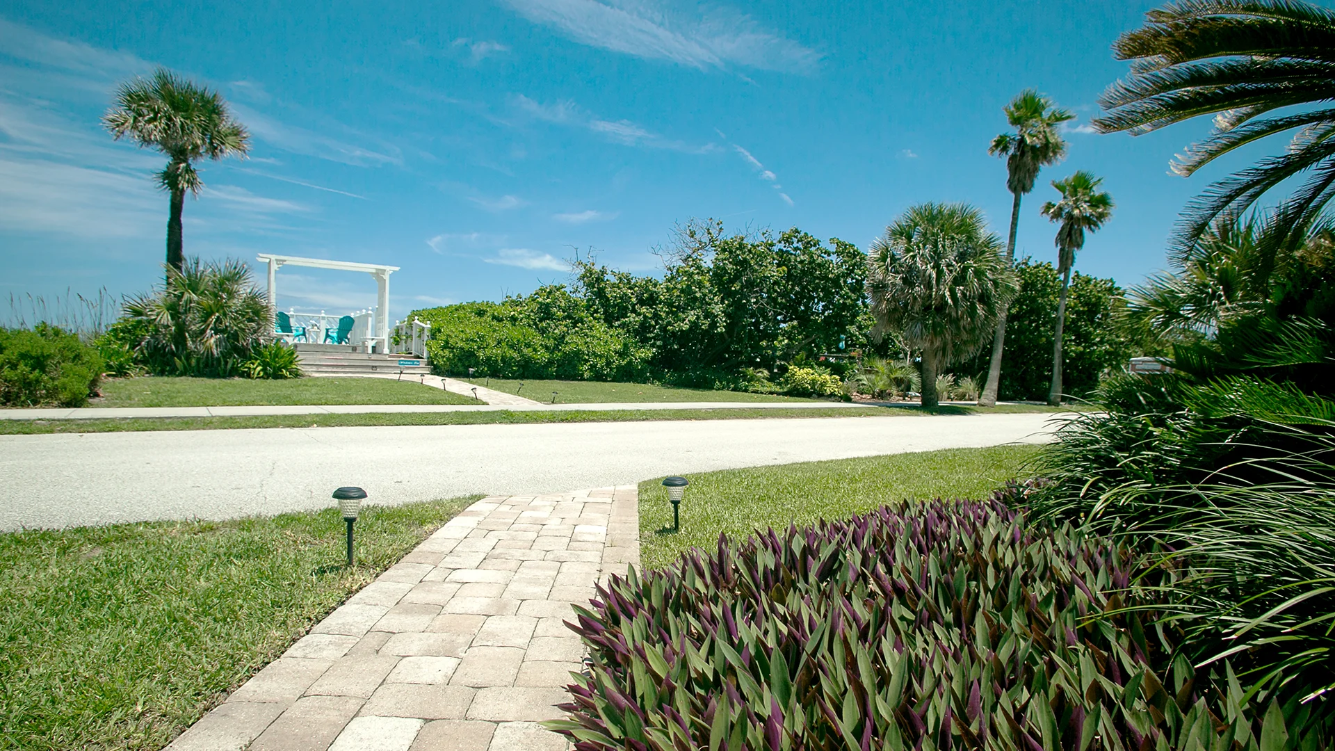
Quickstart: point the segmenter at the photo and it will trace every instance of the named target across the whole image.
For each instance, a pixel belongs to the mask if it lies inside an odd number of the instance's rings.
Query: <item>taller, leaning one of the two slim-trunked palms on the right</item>
[[[1067,143],[1061,140],[1057,126],[1073,118],[1065,110],[1057,110],[1047,96],[1025,90],[1005,106],[1005,119],[1015,132],[1001,134],[992,139],[988,154],[1005,156],[1005,187],[1013,196],[1011,202],[1011,235],[1005,245],[1007,263],[1015,262],[1015,235],[1020,229],[1020,198],[1033,190],[1041,167],[1056,164],[1067,155]],[[979,397],[980,406],[997,404],[997,386],[1001,382],[1001,353],[1005,349],[1007,309],[997,315],[996,337],[992,341],[992,362],[988,366],[988,381]]]

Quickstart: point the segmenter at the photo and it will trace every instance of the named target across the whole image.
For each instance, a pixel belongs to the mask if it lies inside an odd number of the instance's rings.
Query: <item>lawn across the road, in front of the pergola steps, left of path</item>
[[[88,406],[232,406],[322,404],[478,404],[431,386],[388,378],[111,378]]]

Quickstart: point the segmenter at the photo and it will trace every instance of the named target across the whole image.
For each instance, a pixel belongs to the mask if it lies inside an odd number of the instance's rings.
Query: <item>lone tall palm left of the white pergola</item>
[[[186,191],[199,195],[204,183],[195,171],[203,158],[222,159],[250,151],[250,134],[232,118],[216,92],[158,68],[148,80],[136,78],[116,90],[116,106],[101,116],[103,126],[120,140],[129,138],[140,147],[167,155],[167,167],[158,172],[158,186],[171,194],[167,219],[167,265],[180,271],[180,212]]]

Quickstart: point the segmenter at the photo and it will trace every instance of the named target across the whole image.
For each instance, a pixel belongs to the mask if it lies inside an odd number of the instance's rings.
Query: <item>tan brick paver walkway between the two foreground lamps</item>
[[[565,750],[537,724],[583,655],[562,621],[638,561],[634,485],[483,498],[167,750]]]

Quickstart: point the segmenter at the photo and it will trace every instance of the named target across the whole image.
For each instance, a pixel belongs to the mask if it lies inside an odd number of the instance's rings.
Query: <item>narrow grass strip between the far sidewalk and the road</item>
[[[1012,414],[1056,412],[1047,406],[943,406],[936,414]],[[91,420],[0,420],[0,436],[43,433],[117,433],[143,430],[230,430],[239,428],[358,428],[375,425],[533,425],[545,422],[642,422],[651,420],[760,420],[814,417],[926,416],[918,406],[869,409],[643,409],[557,412],[426,412],[362,414],[263,414],[251,417],[119,417]]]

